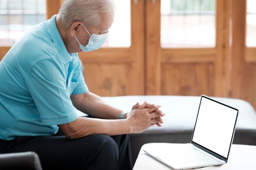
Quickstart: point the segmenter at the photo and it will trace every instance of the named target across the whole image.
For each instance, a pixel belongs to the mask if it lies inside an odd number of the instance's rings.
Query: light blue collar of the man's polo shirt
[[[55,44],[55,47],[61,57],[62,62],[65,64],[67,62],[71,62],[73,57],[68,53],[67,48],[61,38],[61,34],[58,31],[58,28],[56,26],[56,15],[53,15],[51,19],[47,21],[47,31],[49,32],[49,35],[52,38],[52,41]]]

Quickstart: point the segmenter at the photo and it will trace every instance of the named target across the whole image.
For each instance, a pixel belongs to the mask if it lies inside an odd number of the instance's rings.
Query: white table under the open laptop
[[[148,145],[155,147],[157,143],[144,144],[132,170],[172,170],[164,163],[150,157],[143,151]],[[159,144],[159,143],[158,143]],[[161,143],[162,145],[172,145]],[[255,170],[256,169],[256,146],[233,144],[227,163],[221,166],[210,166],[192,170]]]

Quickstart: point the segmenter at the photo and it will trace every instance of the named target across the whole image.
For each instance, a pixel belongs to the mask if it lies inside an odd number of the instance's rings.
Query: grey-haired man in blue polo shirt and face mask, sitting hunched
[[[81,51],[98,49],[112,0],[65,0],[58,15],[26,33],[0,62],[0,153],[36,152],[45,170],[130,170],[129,133],[161,126],[159,105],[129,113],[85,84]],[[81,110],[90,117],[79,117]]]

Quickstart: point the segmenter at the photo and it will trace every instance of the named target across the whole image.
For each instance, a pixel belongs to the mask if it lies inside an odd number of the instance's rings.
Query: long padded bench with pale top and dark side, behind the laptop
[[[200,104],[200,96],[139,95],[103,97],[110,105],[130,111],[136,102],[160,104],[166,114],[162,127],[153,126],[144,132],[130,134],[132,162],[135,163],[143,144],[151,142],[189,143]],[[233,144],[256,145],[256,112],[241,99],[210,97],[239,110]],[[217,125],[216,125],[217,126]]]

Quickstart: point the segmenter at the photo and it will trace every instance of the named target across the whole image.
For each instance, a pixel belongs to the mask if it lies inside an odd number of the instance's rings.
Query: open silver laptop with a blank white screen
[[[201,95],[189,144],[159,143],[143,150],[175,170],[222,165],[229,157],[238,113],[236,108]]]

